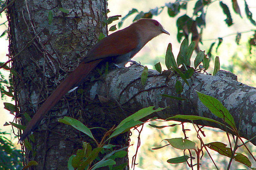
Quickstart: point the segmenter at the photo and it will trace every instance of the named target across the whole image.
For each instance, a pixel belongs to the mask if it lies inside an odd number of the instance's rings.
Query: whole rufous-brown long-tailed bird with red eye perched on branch
[[[22,142],[41,122],[44,115],[72,88],[79,85],[102,60],[115,64],[127,63],[151,39],[165,33],[163,26],[153,19],[139,19],[130,26],[100,40],[85,56],[79,66],[65,78],[37,110],[25,131]],[[71,90],[70,90],[71,91]]]

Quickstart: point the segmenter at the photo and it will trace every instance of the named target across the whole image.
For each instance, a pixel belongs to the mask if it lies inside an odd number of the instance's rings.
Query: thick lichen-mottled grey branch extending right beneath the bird
[[[181,97],[189,100],[177,101],[160,96],[160,94],[177,96],[174,87],[176,78],[174,76],[169,82],[166,82],[166,78],[156,70],[149,70],[148,80],[142,86],[140,82],[142,70],[143,68],[140,67],[113,70],[107,74],[105,83],[95,82],[91,87],[87,87],[84,90],[90,92],[92,100],[96,95],[105,96],[110,101],[118,101],[119,105],[130,113],[148,106],[156,106],[156,108],[169,106],[169,108],[157,112],[155,115],[150,115],[148,118],[157,116],[158,118],[166,119],[181,114],[208,117],[223,123],[199,100],[195,91],[197,90],[217,98],[234,117],[237,129],[241,117],[241,137],[249,140],[255,136],[256,88],[238,82],[235,74],[223,70],[217,72],[215,76],[194,73],[193,81],[191,79],[188,80],[190,87],[180,78],[184,87]],[[196,121],[196,123],[225,130],[224,127],[212,122]],[[251,142],[256,145],[256,139]]]

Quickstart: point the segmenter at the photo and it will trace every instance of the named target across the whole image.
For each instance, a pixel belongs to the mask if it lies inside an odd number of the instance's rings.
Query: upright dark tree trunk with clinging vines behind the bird
[[[9,51],[13,58],[12,68],[17,73],[13,74],[13,86],[21,124],[28,124],[24,113],[33,117],[68,72],[77,67],[97,43],[100,32],[107,34],[107,25],[103,25],[106,13],[107,0],[24,0],[15,1],[8,8]],[[105,121],[104,112],[87,108],[87,103],[83,94],[71,94],[44,118],[34,133],[35,139],[30,140],[31,148],[26,147],[26,162],[35,160],[38,163],[31,169],[67,169],[68,158],[82,148],[82,142],[93,143],[74,128],[58,123],[57,118],[81,119],[81,114],[85,113],[88,119],[84,119],[84,124],[113,126],[112,122]],[[100,140],[103,131],[94,131],[94,135]],[[118,137],[112,141],[113,145],[129,145],[128,135]],[[116,162],[121,164],[128,162],[127,159]]]

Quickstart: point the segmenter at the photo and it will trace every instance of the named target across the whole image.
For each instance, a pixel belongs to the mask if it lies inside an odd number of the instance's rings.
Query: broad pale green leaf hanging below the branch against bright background
[[[182,138],[172,138],[172,139],[164,139],[169,142],[170,145],[175,147],[176,149],[196,149],[196,143],[192,142],[188,139],[182,139]]]

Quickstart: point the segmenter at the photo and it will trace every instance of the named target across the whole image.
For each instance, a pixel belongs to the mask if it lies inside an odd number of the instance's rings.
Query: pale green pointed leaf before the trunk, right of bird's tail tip
[[[68,124],[76,128],[78,131],[83,132],[84,134],[88,135],[90,138],[92,138],[94,141],[95,138],[92,136],[92,132],[89,128],[87,128],[84,124],[82,124],[79,120],[76,120],[71,117],[64,117],[63,119],[58,119],[60,123]]]

